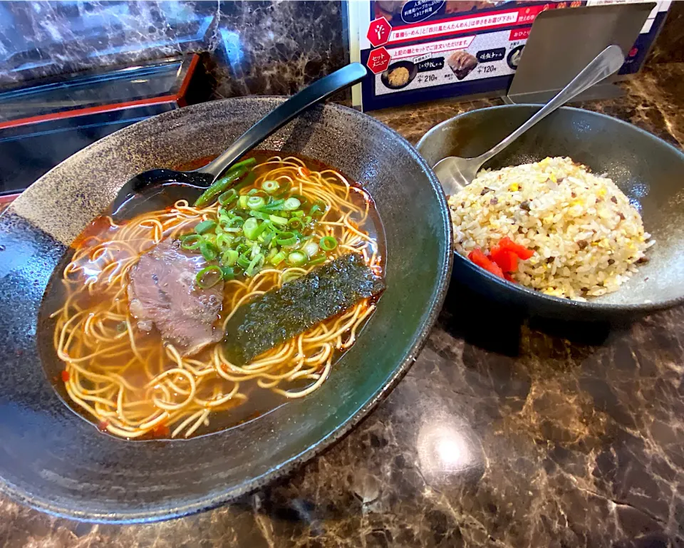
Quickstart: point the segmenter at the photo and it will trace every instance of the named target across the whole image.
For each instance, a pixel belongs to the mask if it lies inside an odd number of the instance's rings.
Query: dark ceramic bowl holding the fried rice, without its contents
[[[527,120],[538,105],[505,105],[472,110],[428,131],[418,151],[430,166],[455,155],[489,150]],[[608,177],[641,211],[655,239],[650,262],[618,291],[587,302],[547,296],[509,283],[455,254],[453,276],[529,314],[559,319],[606,320],[638,316],[684,300],[684,154],[651,133],[616,118],[564,107],[524,133],[484,167],[498,169],[569,156]]]

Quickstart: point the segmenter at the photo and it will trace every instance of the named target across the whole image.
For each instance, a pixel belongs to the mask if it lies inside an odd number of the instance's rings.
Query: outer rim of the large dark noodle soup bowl
[[[213,103],[226,103],[238,101],[269,102],[272,100],[279,100],[281,102],[286,99],[287,97],[282,95],[250,95],[245,97],[226,98],[217,101],[209,101],[207,103],[198,103],[197,105],[190,105],[188,107],[184,107],[182,109],[182,112],[192,115],[196,111],[202,112],[202,110],[211,110],[211,105]],[[418,163],[418,166],[425,173],[425,177],[427,177],[427,182],[429,183],[430,188],[432,189],[432,192],[434,193],[437,199],[439,208],[442,211],[441,230],[445,235],[446,242],[444,252],[443,254],[440,254],[440,257],[438,259],[441,263],[441,267],[439,271],[435,273],[435,276],[437,276],[437,283],[435,284],[435,287],[432,291],[430,301],[426,301],[425,303],[425,318],[418,324],[415,330],[415,334],[413,335],[413,342],[408,345],[408,351],[405,353],[404,358],[397,363],[397,366],[394,368],[393,372],[390,373],[388,380],[385,381],[385,383],[378,385],[378,388],[375,389],[375,391],[371,394],[366,403],[364,403],[360,408],[358,408],[358,410],[356,410],[356,412],[353,413],[353,415],[349,416],[346,420],[341,422],[337,428],[331,430],[331,432],[328,433],[328,435],[319,439],[316,443],[313,443],[308,447],[302,448],[299,451],[299,453],[291,457],[289,460],[281,462],[277,466],[271,467],[271,469],[266,471],[264,474],[253,477],[251,480],[246,480],[242,483],[239,483],[230,490],[225,489],[222,492],[216,493],[214,495],[207,493],[206,495],[195,497],[195,499],[191,501],[180,501],[180,504],[174,505],[173,507],[156,507],[153,510],[124,510],[122,512],[97,512],[94,510],[78,510],[78,505],[70,506],[68,502],[54,502],[53,500],[50,500],[47,497],[33,495],[31,492],[27,491],[23,487],[18,487],[14,484],[11,484],[2,477],[0,477],[0,494],[6,495],[11,500],[14,500],[24,505],[28,505],[29,507],[32,507],[36,510],[46,512],[49,515],[63,517],[67,519],[74,519],[78,522],[89,523],[95,522],[107,524],[143,524],[158,522],[165,519],[185,517],[187,515],[196,514],[198,512],[212,510],[216,507],[219,507],[220,505],[224,505],[227,502],[235,500],[237,497],[241,497],[243,495],[249,494],[250,492],[254,492],[255,490],[264,487],[265,485],[269,484],[270,482],[276,480],[279,477],[286,477],[291,472],[301,467],[301,465],[304,465],[305,462],[308,462],[312,458],[323,453],[324,450],[327,450],[331,447],[331,445],[341,440],[341,438],[343,438],[345,435],[351,432],[351,430],[353,430],[353,428],[355,428],[356,425],[361,423],[363,419],[367,418],[371,411],[374,410],[403,379],[403,377],[408,372],[410,367],[413,366],[413,363],[418,357],[418,353],[420,353],[420,351],[425,346],[425,343],[427,342],[427,337],[429,336],[430,331],[432,331],[432,327],[434,326],[435,321],[437,320],[437,316],[438,314],[440,314],[440,311],[442,309],[442,305],[445,301],[447,289],[449,287],[451,280],[451,272],[453,265],[453,231],[451,227],[449,207],[447,205],[446,196],[444,191],[442,190],[442,185],[440,185],[439,180],[437,180],[437,176],[434,172],[432,172],[430,166],[427,165],[425,159],[418,153],[415,147],[411,145],[411,143],[409,143],[408,140],[403,138],[402,135],[400,135],[398,132],[390,128],[388,125],[381,123],[379,120],[371,117],[366,113],[361,113],[356,109],[348,108],[344,105],[339,105],[337,103],[323,103],[322,105],[318,105],[318,108],[329,109],[341,115],[351,115],[354,117],[365,118],[366,123],[372,124],[373,126],[375,126],[375,128],[378,128],[378,130],[381,130],[385,133],[388,132],[390,134],[393,134],[396,143],[398,145],[403,145],[405,152],[408,152],[408,154],[411,157],[413,157],[413,160]],[[105,143],[108,143],[109,140],[115,138],[115,135],[118,135],[118,138],[120,138],[121,135],[125,135],[126,132],[130,131],[131,128],[133,128],[136,125],[147,125],[155,122],[158,123],[158,120],[165,120],[166,118],[173,119],[178,118],[179,116],[182,115],[179,115],[178,110],[171,110],[167,113],[162,113],[160,115],[147,118],[146,120],[141,120],[138,123],[122,128],[110,135],[105,136],[104,138],[96,141],[95,143],[88,145],[88,147],[83,148],[83,150],[76,152],[76,155],[86,155],[91,150],[93,150],[93,148],[96,148],[99,144],[101,144],[103,141]],[[152,122],[152,120],[155,120],[155,122]],[[73,155],[66,158],[66,160],[63,160],[63,162],[68,162],[71,159],[71,157],[73,157]],[[61,165],[63,162],[60,162],[59,165]],[[38,180],[36,180],[36,182],[41,182],[41,180],[43,180],[43,177],[45,177],[45,175],[39,177]],[[36,182],[34,182],[33,184],[35,185]],[[21,197],[19,197],[18,199],[21,200]],[[28,197],[26,197],[26,200],[28,200]],[[4,212],[4,214],[11,214],[12,210],[13,208],[9,207],[8,210]],[[14,214],[18,213],[14,212]],[[21,217],[21,215],[19,215],[19,217]],[[33,335],[33,338],[35,338],[35,335]]]

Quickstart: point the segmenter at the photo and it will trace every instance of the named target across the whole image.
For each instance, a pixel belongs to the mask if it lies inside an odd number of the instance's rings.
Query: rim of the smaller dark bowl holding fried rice
[[[437,125],[433,126],[427,132],[425,132],[425,135],[420,138],[418,141],[418,144],[415,145],[416,150],[420,153],[420,149],[424,145],[425,141],[427,141],[427,138],[430,137],[430,135],[433,132],[437,132],[440,130],[442,127],[445,127],[447,125],[450,125],[454,123],[457,120],[460,120],[460,118],[465,118],[468,115],[472,115],[473,113],[479,113],[484,110],[539,110],[541,107],[544,105],[540,104],[534,104],[534,103],[517,103],[514,105],[494,105],[491,107],[484,107],[484,108],[475,108],[473,110],[467,110],[465,113],[460,113],[452,118],[449,118],[448,120],[444,120],[443,122],[438,123]],[[684,165],[684,152],[678,148],[676,148],[674,145],[671,145],[667,141],[659,138],[657,135],[653,135],[653,133],[650,133],[642,128],[639,128],[636,125],[633,125],[629,122],[626,122],[625,120],[620,120],[619,118],[614,118],[613,116],[609,116],[607,114],[603,113],[597,113],[594,110],[587,110],[586,108],[577,108],[577,107],[569,107],[569,106],[562,106],[558,110],[564,110],[564,111],[571,111],[571,112],[576,112],[576,113],[582,113],[583,115],[591,115],[595,116],[596,118],[603,118],[606,120],[611,120],[611,123],[617,123],[618,125],[622,125],[623,128],[626,128],[628,131],[636,131],[637,133],[641,133],[644,137],[652,140],[658,141],[660,145],[665,145],[666,147],[670,148],[672,152],[674,152],[676,155],[680,157],[681,162]],[[432,168],[432,166],[430,166]],[[499,276],[495,276],[491,272],[487,272],[487,270],[483,269],[482,267],[478,267],[476,264],[472,263],[470,260],[467,259],[467,257],[463,257],[460,253],[454,250],[454,256],[455,256],[455,261],[460,261],[461,264],[465,265],[466,267],[472,268],[475,272],[478,274],[485,276],[489,280],[490,283],[497,284],[500,288],[502,288],[504,291],[511,291],[513,294],[516,294],[519,297],[522,297],[524,299],[532,299],[532,301],[537,301],[541,304],[556,304],[559,306],[566,306],[569,309],[576,309],[576,310],[581,310],[581,311],[586,311],[586,312],[591,312],[594,311],[596,314],[629,314],[629,313],[638,313],[638,314],[648,314],[650,312],[655,312],[658,310],[664,310],[664,309],[669,309],[672,308],[673,306],[676,306],[678,304],[681,304],[684,302],[684,294],[681,296],[675,297],[674,299],[668,299],[666,301],[654,301],[651,303],[643,303],[643,304],[605,304],[605,303],[597,303],[596,301],[574,301],[571,299],[563,299],[561,297],[556,297],[552,295],[546,295],[544,293],[541,293],[540,291],[534,291],[534,289],[528,289],[525,286],[519,285],[519,284],[514,284],[511,281],[507,281],[506,279],[499,278]]]

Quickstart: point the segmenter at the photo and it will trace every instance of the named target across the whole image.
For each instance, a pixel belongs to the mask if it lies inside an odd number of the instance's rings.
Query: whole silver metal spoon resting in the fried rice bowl
[[[539,122],[541,118],[551,114],[556,108],[564,105],[564,103],[567,103],[586,89],[591,88],[591,86],[594,86],[595,83],[600,82],[603,78],[616,73],[624,61],[625,56],[619,46],[608,46],[594,58],[594,61],[591,61],[589,65],[584,67],[581,73],[575,76],[558,95],[546,103],[532,118],[517,128],[511,135],[502,140],[501,143],[494,145],[484,154],[474,158],[449,156],[437,162],[432,167],[432,170],[435,171],[437,179],[442,183],[445,193],[453,195],[465,187],[465,185],[469,185],[475,179],[477,172],[480,171],[480,167],[482,167],[484,162],[487,162],[494,155],[504,150],[504,148],[519,138],[520,135]]]

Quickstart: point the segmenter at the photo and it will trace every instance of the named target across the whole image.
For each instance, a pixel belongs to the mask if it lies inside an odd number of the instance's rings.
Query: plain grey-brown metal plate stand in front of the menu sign
[[[611,44],[627,53],[655,6],[618,4],[542,12],[534,20],[524,53],[522,48],[518,52],[522,55],[504,103],[546,103]],[[573,102],[623,95],[614,84],[616,78],[596,84]]]

